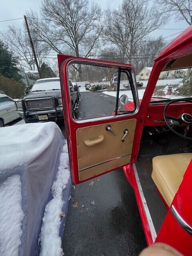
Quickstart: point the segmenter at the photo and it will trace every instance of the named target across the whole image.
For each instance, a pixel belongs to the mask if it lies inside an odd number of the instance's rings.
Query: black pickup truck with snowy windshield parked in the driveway
[[[80,92],[69,81],[73,115]],[[26,91],[27,92],[27,91]],[[35,82],[32,89],[16,102],[18,114],[26,123],[56,121],[63,118],[59,78],[44,78]]]

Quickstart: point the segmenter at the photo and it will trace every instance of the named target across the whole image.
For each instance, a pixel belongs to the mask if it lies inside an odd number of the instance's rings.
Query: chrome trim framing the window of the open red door
[[[67,81],[68,81],[68,88],[69,88],[69,78],[68,78],[68,66],[72,63],[72,62],[76,62],[76,63],[80,63],[80,64],[86,64],[86,65],[93,65],[93,66],[105,66],[107,68],[129,68],[127,66],[124,66],[124,64],[109,64],[107,62],[93,62],[90,60],[79,60],[79,59],[73,59],[70,60],[70,62],[68,62],[67,66],[66,66],[66,74],[67,74]],[[134,88],[134,96],[136,99],[136,108],[135,111],[132,113],[128,113],[128,114],[122,114],[122,115],[106,115],[106,116],[98,116],[98,117],[93,117],[93,118],[85,118],[85,119],[74,119],[72,116],[72,109],[70,109],[70,117],[71,120],[73,120],[73,122],[78,123],[78,124],[82,124],[82,123],[89,123],[89,122],[96,122],[96,121],[100,121],[100,120],[108,120],[111,118],[120,118],[120,117],[126,117],[126,116],[134,116],[138,113],[139,108],[140,108],[140,104],[139,104],[139,97],[138,97],[138,89],[137,89],[137,85],[136,85],[136,77],[134,75],[134,71],[132,68],[130,68],[131,74],[132,74],[132,80],[133,80],[133,88]],[[68,90],[68,97],[71,101],[70,98],[70,90]],[[115,104],[114,104],[114,109],[115,109]]]

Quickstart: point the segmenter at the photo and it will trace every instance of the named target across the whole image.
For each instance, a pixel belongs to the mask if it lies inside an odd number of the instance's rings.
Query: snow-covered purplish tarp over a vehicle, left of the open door
[[[62,191],[70,186],[62,132],[54,122],[22,124],[1,128],[0,138],[0,255],[62,252]]]

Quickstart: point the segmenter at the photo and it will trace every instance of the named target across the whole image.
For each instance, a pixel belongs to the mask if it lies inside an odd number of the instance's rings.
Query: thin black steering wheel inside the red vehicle
[[[169,116],[166,114],[166,110],[167,108],[175,102],[190,102],[192,103],[192,100],[185,100],[185,99],[176,99],[176,100],[172,100],[170,101],[164,108],[163,111],[163,116],[164,116],[164,120],[167,124],[167,126],[170,128],[170,130],[172,130],[172,132],[174,132],[176,135],[180,136],[181,138],[187,139],[187,140],[192,140],[192,137],[188,137],[185,136],[185,134],[188,132],[190,126],[192,126],[192,115],[188,114],[188,113],[183,113],[182,115],[180,115],[179,117],[174,117],[174,116]],[[184,135],[180,134],[179,132],[176,132],[176,130],[174,130],[174,126],[181,126],[182,124],[187,125],[185,130],[184,130]]]

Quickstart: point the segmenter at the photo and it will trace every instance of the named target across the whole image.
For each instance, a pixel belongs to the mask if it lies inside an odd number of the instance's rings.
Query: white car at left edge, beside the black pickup
[[[0,127],[19,118],[15,101],[6,94],[0,94]]]

